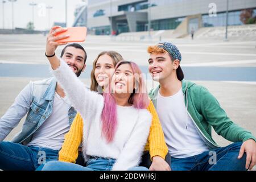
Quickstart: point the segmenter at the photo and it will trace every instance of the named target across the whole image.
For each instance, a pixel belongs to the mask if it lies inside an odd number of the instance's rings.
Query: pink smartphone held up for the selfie
[[[59,35],[69,35],[66,39],[57,40],[56,42],[65,43],[65,42],[84,42],[87,33],[86,27],[69,27],[67,31],[56,34]]]

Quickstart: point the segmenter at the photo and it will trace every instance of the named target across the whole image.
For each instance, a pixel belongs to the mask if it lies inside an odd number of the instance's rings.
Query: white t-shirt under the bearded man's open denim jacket
[[[61,98],[59,94],[55,92],[52,114],[32,135],[32,140],[27,146],[60,150],[64,142],[64,135],[69,131],[69,108],[70,104],[67,96]]]

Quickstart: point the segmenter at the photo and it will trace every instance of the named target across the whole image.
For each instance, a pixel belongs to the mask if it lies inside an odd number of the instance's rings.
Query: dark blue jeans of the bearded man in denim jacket
[[[46,162],[58,160],[58,152],[50,148],[0,142],[0,169],[9,171],[40,170]]]

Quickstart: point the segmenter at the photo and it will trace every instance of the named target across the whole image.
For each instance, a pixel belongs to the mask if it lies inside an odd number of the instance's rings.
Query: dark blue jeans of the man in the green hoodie
[[[188,158],[171,158],[171,169],[174,171],[245,171],[246,153],[241,159],[237,159],[241,144],[242,142],[233,143]],[[213,154],[216,154],[215,159]]]

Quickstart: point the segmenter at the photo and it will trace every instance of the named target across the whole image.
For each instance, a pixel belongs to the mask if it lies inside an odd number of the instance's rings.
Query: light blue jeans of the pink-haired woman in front
[[[91,158],[87,162],[87,166],[83,167],[78,164],[51,161],[46,163],[43,171],[111,171],[115,159]],[[146,167],[133,167],[128,171],[148,171]]]

